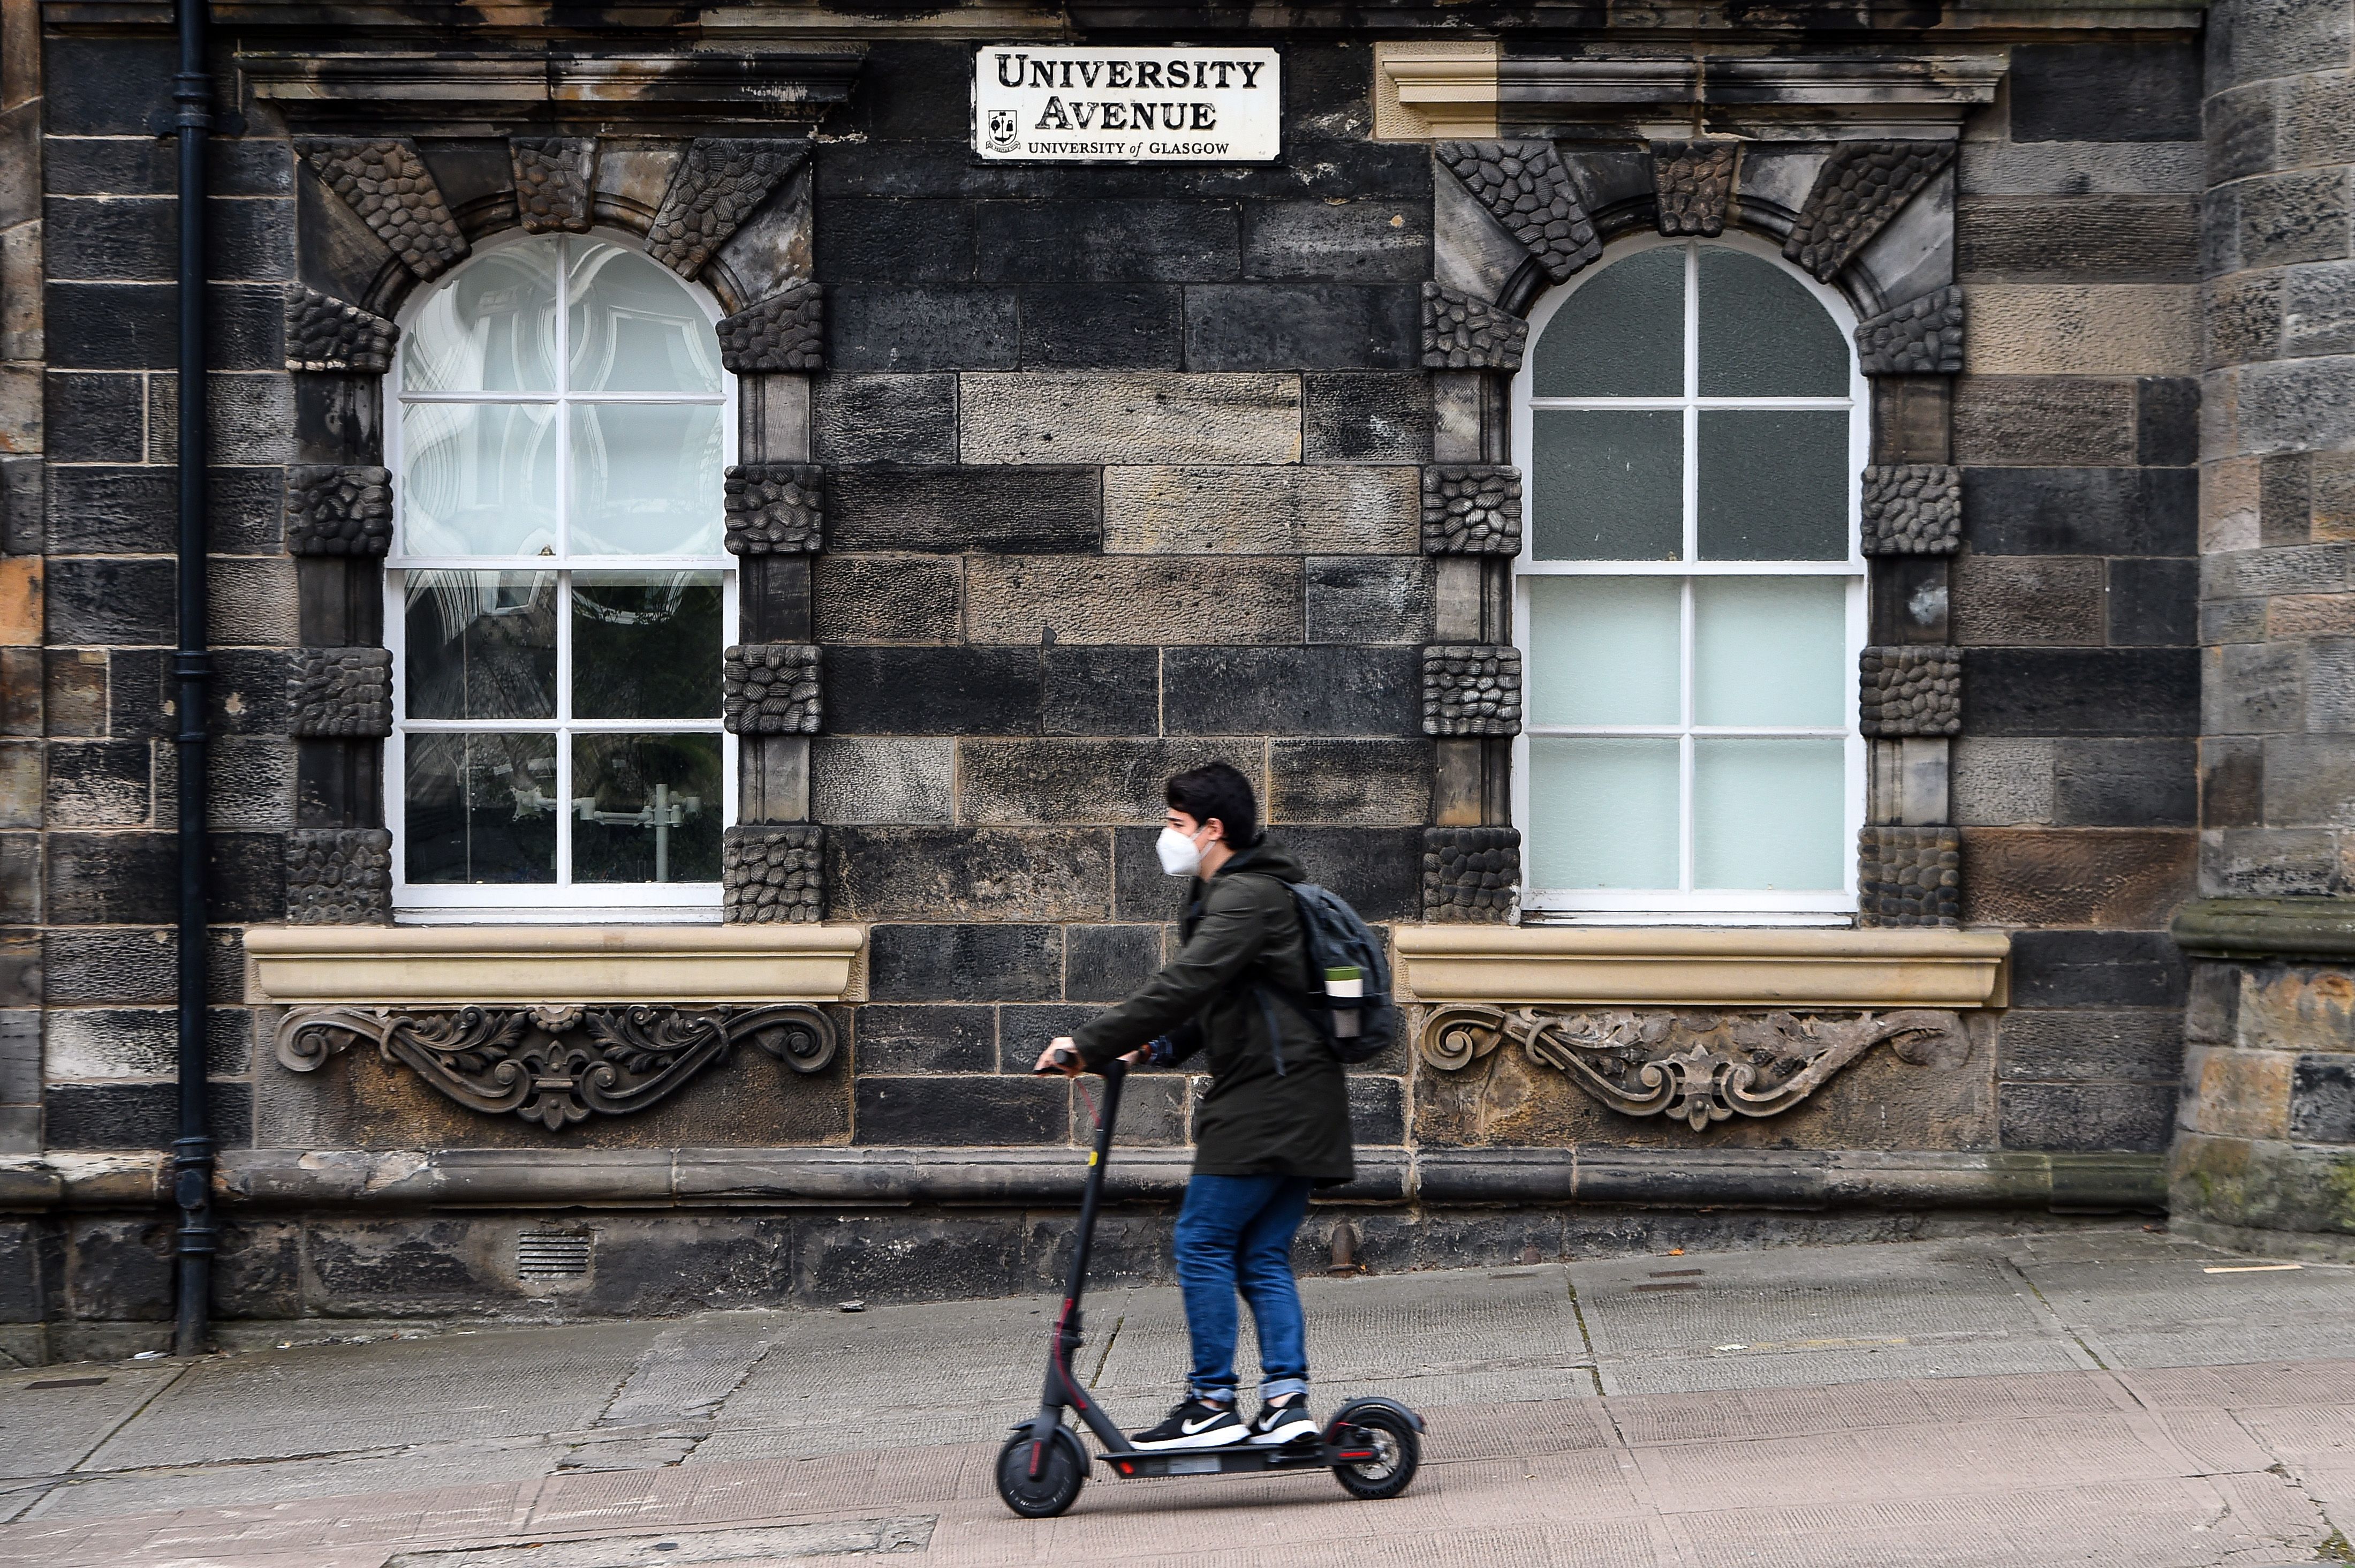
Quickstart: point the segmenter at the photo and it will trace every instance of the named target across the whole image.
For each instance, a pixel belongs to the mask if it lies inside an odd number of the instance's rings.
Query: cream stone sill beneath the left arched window
[[[252,1003],[841,1003],[864,925],[254,925]]]

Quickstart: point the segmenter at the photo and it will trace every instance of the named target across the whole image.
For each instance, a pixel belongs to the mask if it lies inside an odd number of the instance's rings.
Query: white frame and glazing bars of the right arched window
[[[1698,365],[1700,365],[1700,308],[1698,292],[1693,287],[1693,271],[1698,250],[1703,245],[1717,245],[1726,250],[1740,250],[1771,261],[1785,278],[1792,278],[1806,287],[1806,292],[1820,304],[1832,325],[1839,330],[1842,341],[1849,351],[1849,396],[1846,398],[1700,398],[1698,396]],[[1583,285],[1599,278],[1611,264],[1623,261],[1637,252],[1681,247],[1686,252],[1684,261],[1684,391],[1674,398],[1538,398],[1531,391],[1535,374],[1535,346],[1552,323],[1554,313],[1561,311]],[[1858,697],[1856,697],[1856,662],[1863,655],[1868,636],[1868,598],[1865,598],[1865,558],[1863,558],[1863,534],[1860,534],[1860,476],[1872,452],[1872,398],[1865,381],[1863,367],[1856,356],[1856,311],[1835,290],[1823,287],[1806,273],[1792,268],[1783,261],[1776,247],[1740,233],[1724,233],[1710,240],[1689,238],[1665,238],[1644,235],[1639,240],[1623,240],[1604,252],[1585,275],[1571,280],[1568,285],[1552,290],[1538,308],[1528,315],[1528,344],[1521,372],[1512,379],[1512,450],[1521,454],[1521,471],[1526,476],[1524,485],[1528,492],[1528,525],[1521,530],[1521,556],[1514,560],[1514,584],[1512,584],[1512,626],[1514,645],[1521,650],[1521,666],[1531,671],[1535,680],[1535,659],[1531,647],[1531,591],[1528,584],[1538,577],[1677,577],[1684,582],[1684,614],[1679,626],[1679,657],[1684,666],[1681,678],[1681,720],[1677,725],[1521,725],[1521,735],[1512,742],[1512,822],[1521,829],[1521,864],[1524,883],[1528,878],[1528,866],[1533,864],[1531,845],[1538,843],[1538,824],[1531,817],[1528,805],[1528,765],[1531,765],[1531,739],[1550,735],[1601,735],[1601,737],[1674,737],[1679,739],[1679,812],[1677,812],[1677,862],[1679,862],[1679,885],[1677,888],[1641,888],[1641,890],[1559,890],[1559,888],[1535,888],[1524,885],[1521,892],[1521,918],[1524,923],[1578,923],[1578,925],[1849,925],[1856,918],[1856,836],[1865,824],[1865,775],[1868,753],[1865,739],[1858,727]],[[1684,560],[1538,560],[1535,558],[1535,513],[1543,506],[1538,494],[1538,461],[1535,461],[1535,412],[1538,410],[1679,410],[1684,414]],[[1846,560],[1696,560],[1696,532],[1698,532],[1698,473],[1700,473],[1700,410],[1717,407],[1745,407],[1745,410],[1846,410],[1849,414],[1849,558]],[[1844,725],[1837,730],[1802,730],[1802,727],[1714,727],[1693,725],[1693,579],[1696,577],[1844,577],[1849,579],[1846,591],[1846,669],[1851,671],[1846,697],[1844,697]],[[1533,697],[1535,692],[1528,692]],[[1524,697],[1524,713],[1533,713],[1535,704]],[[1842,888],[1837,892],[1745,892],[1745,890],[1700,890],[1693,888],[1693,739],[1707,737],[1813,737],[1813,739],[1842,739],[1844,742],[1844,791],[1842,824],[1844,843],[1851,845],[1842,864]]]

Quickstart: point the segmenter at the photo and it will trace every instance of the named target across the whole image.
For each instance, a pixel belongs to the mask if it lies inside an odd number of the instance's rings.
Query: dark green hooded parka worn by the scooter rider
[[[1356,1165],[1349,1085],[1331,1045],[1286,991],[1307,991],[1307,949],[1291,883],[1300,862],[1260,838],[1189,885],[1185,946],[1072,1043],[1102,1067],[1159,1036],[1178,1057],[1208,1055],[1210,1092],[1194,1111],[1194,1175],[1293,1175],[1319,1187]],[[1269,1048],[1269,1022],[1279,1052]]]

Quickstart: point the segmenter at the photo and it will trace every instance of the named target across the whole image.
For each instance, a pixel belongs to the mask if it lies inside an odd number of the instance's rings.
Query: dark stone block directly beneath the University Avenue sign
[[[1236,221],[1234,202],[982,202],[977,275],[984,283],[1225,283],[1241,275]]]

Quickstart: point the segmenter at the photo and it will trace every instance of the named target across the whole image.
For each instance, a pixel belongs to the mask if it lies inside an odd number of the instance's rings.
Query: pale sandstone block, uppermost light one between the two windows
[[[966,374],[968,464],[1295,464],[1298,374]]]

